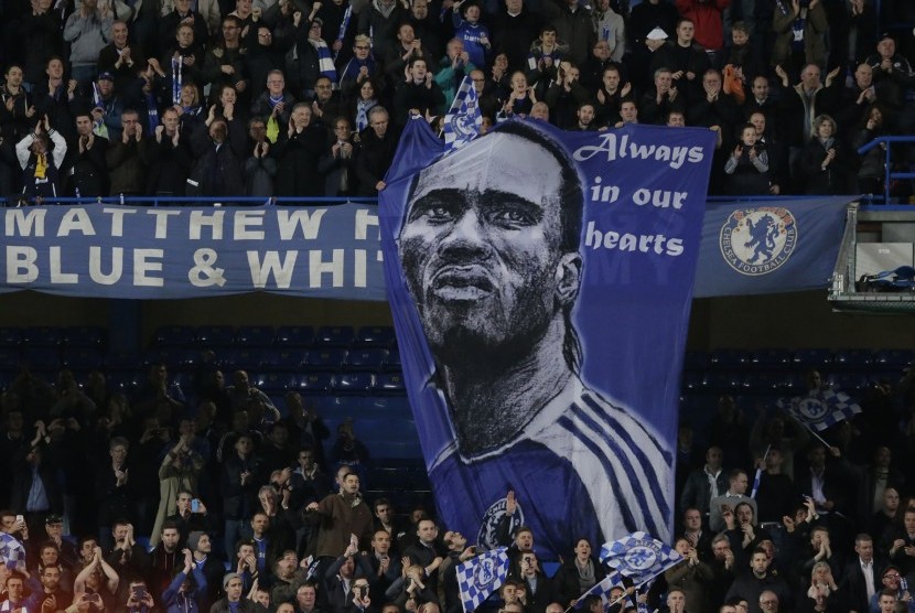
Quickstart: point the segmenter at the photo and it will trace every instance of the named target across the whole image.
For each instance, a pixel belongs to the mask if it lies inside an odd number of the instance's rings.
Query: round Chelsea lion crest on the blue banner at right
[[[781,206],[741,208],[721,226],[724,260],[741,275],[766,275],[788,261],[797,247],[797,222]]]

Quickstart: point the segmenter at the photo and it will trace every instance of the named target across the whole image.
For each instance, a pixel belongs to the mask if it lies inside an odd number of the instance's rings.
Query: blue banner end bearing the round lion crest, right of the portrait
[[[822,289],[850,196],[709,204],[696,298]]]

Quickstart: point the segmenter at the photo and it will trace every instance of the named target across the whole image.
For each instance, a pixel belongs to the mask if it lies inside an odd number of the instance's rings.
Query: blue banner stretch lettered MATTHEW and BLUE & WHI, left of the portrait
[[[384,300],[374,206],[6,208],[0,292]]]

